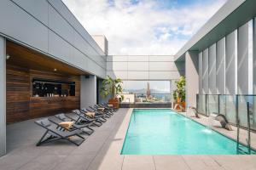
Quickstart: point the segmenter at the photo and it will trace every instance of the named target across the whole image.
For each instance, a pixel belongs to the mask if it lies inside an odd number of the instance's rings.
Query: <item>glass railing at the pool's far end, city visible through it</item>
[[[118,94],[121,103],[171,103],[172,94]]]

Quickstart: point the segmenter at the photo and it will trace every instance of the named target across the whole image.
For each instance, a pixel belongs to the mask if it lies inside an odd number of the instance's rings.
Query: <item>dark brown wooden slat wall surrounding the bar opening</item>
[[[80,107],[79,76],[37,71],[7,64],[7,122],[51,116]],[[75,82],[75,96],[32,97],[32,79]]]

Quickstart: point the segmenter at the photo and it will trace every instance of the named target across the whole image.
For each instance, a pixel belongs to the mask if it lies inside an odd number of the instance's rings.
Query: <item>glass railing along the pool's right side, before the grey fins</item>
[[[256,130],[256,95],[242,94],[197,94],[196,106],[203,115],[223,114],[227,120],[247,127],[247,113],[251,128]]]

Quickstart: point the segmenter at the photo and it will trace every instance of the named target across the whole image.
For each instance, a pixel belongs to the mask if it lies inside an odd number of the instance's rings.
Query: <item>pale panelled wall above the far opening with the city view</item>
[[[184,62],[173,56],[111,55],[107,57],[107,75],[122,80],[176,80],[184,75]]]

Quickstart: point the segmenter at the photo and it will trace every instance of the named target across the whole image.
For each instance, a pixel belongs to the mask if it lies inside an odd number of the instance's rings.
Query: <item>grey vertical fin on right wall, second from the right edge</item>
[[[237,94],[248,94],[248,23],[237,29]],[[238,117],[247,127],[247,97],[238,96]]]

